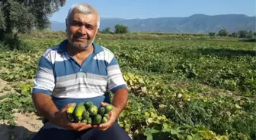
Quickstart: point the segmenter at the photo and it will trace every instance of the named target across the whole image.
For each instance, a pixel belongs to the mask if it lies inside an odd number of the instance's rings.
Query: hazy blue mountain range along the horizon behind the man
[[[227,29],[230,33],[238,30],[256,31],[256,16],[245,14],[205,15],[194,14],[190,17],[159,17],[147,19],[101,18],[100,30],[116,24],[128,26],[132,32],[163,33],[209,33]],[[51,30],[66,30],[65,23],[52,22]]]

